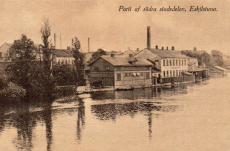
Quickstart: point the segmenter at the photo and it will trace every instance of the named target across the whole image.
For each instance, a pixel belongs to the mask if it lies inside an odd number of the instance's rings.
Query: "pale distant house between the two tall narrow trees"
[[[52,51],[53,64],[58,65],[73,65],[74,57],[71,50],[63,50],[63,49],[54,49]]]

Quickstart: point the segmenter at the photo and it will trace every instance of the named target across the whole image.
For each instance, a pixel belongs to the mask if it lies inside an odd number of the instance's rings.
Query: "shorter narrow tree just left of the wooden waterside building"
[[[85,56],[82,52],[79,51],[81,49],[81,44],[77,37],[72,39],[72,45],[73,45],[72,48],[73,57],[75,58],[74,65],[75,65],[76,86],[84,85],[85,84],[85,79],[84,79]]]

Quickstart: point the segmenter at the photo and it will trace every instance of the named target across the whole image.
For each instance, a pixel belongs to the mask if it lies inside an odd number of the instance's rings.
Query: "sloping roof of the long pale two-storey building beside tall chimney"
[[[146,50],[146,49],[144,49]],[[160,49],[147,49],[152,53],[158,55],[161,58],[188,58],[185,55],[182,55],[180,51],[176,50],[160,50]]]

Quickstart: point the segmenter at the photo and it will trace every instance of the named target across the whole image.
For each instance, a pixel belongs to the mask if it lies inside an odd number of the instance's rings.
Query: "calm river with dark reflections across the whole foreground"
[[[2,151],[228,151],[230,77],[1,106]]]

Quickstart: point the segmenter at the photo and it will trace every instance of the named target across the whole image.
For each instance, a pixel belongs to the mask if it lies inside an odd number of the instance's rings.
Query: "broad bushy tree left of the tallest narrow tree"
[[[21,39],[15,40],[10,48],[12,64],[8,66],[10,80],[25,89],[30,88],[30,77],[32,76],[32,64],[36,59],[36,47],[34,42],[22,35]]]

